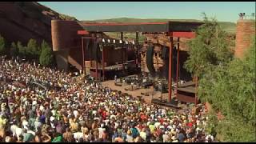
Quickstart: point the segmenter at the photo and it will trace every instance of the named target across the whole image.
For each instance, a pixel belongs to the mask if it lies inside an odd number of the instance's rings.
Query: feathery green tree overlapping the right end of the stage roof
[[[186,70],[202,77],[208,71],[214,70],[214,66],[225,65],[233,58],[230,49],[228,35],[216,19],[209,20],[204,14],[204,24],[195,31],[197,37],[190,44],[189,58],[185,63]]]

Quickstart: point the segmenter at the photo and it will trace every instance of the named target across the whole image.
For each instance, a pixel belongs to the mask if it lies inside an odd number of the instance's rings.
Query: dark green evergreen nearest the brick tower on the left
[[[50,48],[50,46],[47,44],[47,42],[42,41],[41,44],[41,54],[39,58],[39,62],[42,66],[50,66],[50,64],[53,62],[54,56],[53,52]]]

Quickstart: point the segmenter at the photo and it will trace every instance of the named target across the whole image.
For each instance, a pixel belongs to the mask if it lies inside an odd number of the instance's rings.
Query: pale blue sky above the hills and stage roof
[[[78,20],[170,18],[202,20],[202,12],[222,22],[236,22],[238,13],[255,13],[255,2],[39,2]]]

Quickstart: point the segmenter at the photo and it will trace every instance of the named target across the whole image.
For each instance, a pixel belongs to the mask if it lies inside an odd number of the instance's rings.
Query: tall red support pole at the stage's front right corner
[[[169,50],[169,102],[171,102],[171,94],[172,94],[172,69],[171,69],[171,64],[172,64],[172,49],[173,49],[173,33],[170,32],[169,33],[169,37],[170,37],[170,50]]]

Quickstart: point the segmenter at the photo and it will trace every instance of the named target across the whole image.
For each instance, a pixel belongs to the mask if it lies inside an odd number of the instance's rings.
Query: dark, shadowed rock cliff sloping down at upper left
[[[52,19],[76,20],[38,2],[0,3],[0,34],[7,42],[26,44],[30,38],[34,38],[39,43],[45,39],[51,45]]]

